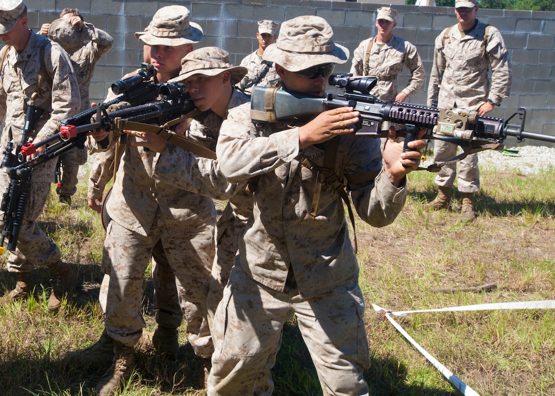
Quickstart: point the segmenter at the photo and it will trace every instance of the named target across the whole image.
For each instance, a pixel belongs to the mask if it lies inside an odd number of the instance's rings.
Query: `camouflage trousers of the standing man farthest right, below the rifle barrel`
[[[457,148],[456,144],[435,140],[433,143],[433,160],[436,163],[448,161],[457,155]],[[480,170],[478,169],[477,154],[468,155],[458,163],[443,165],[436,176],[436,185],[452,187],[455,178],[457,179],[458,191],[478,192],[480,190]]]

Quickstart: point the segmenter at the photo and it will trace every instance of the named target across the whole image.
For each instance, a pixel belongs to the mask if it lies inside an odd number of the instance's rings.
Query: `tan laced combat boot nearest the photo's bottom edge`
[[[113,395],[125,387],[135,367],[135,356],[133,353],[133,347],[126,347],[114,341],[114,361],[97,384],[96,389],[100,396]]]

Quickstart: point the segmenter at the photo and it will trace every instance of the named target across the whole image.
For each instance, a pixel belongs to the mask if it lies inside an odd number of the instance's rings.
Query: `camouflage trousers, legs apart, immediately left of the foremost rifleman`
[[[214,260],[212,225],[191,230],[184,226],[170,232],[157,216],[148,235],[143,236],[110,221],[103,252],[104,271],[109,273],[105,312],[108,335],[129,347],[139,341],[145,327],[144,273],[159,242],[175,275],[179,299],[188,302],[183,309],[188,340],[197,356],[209,358],[214,351],[206,317],[206,295]]]

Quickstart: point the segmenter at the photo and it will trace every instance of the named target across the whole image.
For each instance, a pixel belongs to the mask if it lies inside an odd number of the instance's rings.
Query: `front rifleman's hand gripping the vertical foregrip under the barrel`
[[[396,130],[394,126],[391,126],[389,129],[382,156],[384,160],[384,171],[387,177],[389,177],[391,184],[394,186],[399,187],[405,175],[412,172],[420,165],[420,150],[426,146],[426,142],[420,138],[422,138],[425,133],[426,130],[421,129],[416,134],[417,140],[408,143],[408,147],[415,151],[406,151],[403,153],[403,146],[405,143],[403,141],[395,141]]]

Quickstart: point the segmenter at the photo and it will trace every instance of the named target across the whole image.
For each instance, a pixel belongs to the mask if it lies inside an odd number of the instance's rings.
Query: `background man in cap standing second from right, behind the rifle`
[[[417,93],[424,84],[424,66],[416,47],[393,34],[397,26],[398,12],[390,7],[380,7],[376,14],[376,37],[359,44],[352,58],[352,75],[367,75],[377,78],[371,94],[382,100],[406,101]],[[408,85],[400,92],[397,76],[406,67],[411,72]],[[385,128],[387,129],[387,128]]]

